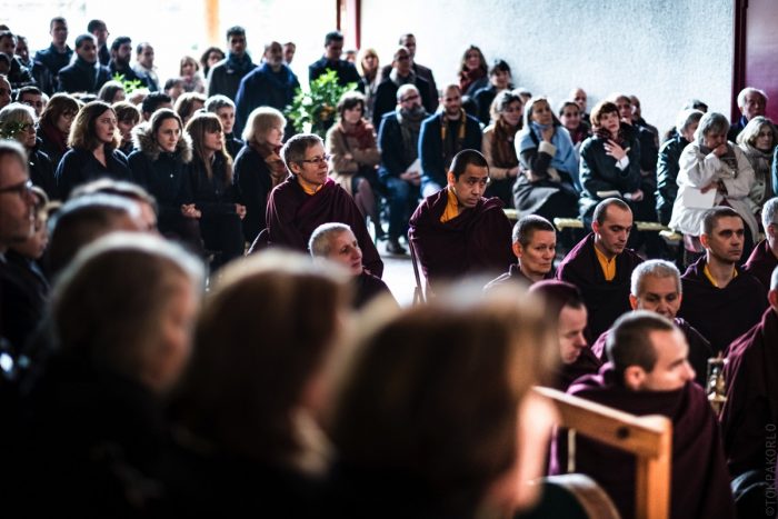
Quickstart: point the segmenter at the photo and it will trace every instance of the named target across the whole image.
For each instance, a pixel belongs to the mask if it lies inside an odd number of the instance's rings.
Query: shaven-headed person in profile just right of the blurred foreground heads
[[[595,375],[602,367],[584,337],[587,321],[584,298],[575,285],[556,279],[538,281],[529,291],[542,296],[551,327],[556,321],[560,363],[549,385],[567,391],[573,380]]]

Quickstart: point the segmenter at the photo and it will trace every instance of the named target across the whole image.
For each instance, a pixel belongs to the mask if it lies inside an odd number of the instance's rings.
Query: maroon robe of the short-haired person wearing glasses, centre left
[[[380,278],[383,261],[368,233],[365,218],[351,196],[332,179],[328,178],[315,194],[308,194],[297,177],[290,174],[268,197],[267,224],[271,246],[306,252],[316,228],[330,222],[346,223],[351,228],[362,249],[365,268]]]

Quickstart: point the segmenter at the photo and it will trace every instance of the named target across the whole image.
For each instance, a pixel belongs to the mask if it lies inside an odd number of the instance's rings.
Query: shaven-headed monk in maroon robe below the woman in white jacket
[[[681,276],[684,300],[678,316],[702,333],[718,353],[759,322],[767,293],[754,276],[738,267],[745,223],[735,209],[708,209],[700,242],[706,253]]]

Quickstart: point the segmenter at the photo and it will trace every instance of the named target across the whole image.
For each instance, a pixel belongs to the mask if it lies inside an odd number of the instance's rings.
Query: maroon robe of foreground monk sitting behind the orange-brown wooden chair
[[[632,391],[617,380],[612,366],[607,363],[599,375],[577,380],[568,393],[637,416],[668,417],[672,420],[670,517],[735,517],[718,423],[699,386],[687,383],[675,391]],[[567,435],[559,433],[553,451],[566,451],[566,443]],[[635,517],[635,457],[581,436],[576,440],[576,471],[597,480],[621,517]],[[565,466],[566,459],[556,458],[551,469],[556,472]]]

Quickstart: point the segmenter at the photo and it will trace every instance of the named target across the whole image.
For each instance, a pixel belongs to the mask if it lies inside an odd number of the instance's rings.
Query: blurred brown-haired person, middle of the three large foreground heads
[[[291,253],[223,270],[172,407],[186,433],[186,461],[167,481],[173,516],[323,517],[328,449],[318,421],[347,283]]]

